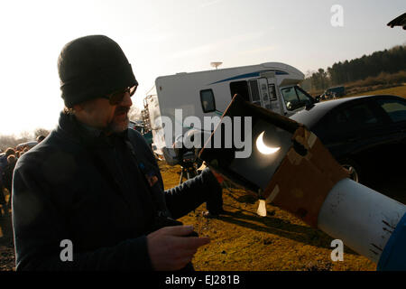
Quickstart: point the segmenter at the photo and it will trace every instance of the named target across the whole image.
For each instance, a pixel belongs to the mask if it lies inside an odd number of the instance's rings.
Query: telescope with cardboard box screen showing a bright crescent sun
[[[251,124],[251,134],[241,123]],[[251,138],[251,154],[225,145],[230,131]],[[406,206],[347,178],[318,136],[296,121],[235,95],[199,158],[256,193],[263,206],[272,203],[341,239],[378,270],[406,270]]]

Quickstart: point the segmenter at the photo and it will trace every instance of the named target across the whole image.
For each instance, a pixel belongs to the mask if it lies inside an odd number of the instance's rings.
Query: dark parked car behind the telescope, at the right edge
[[[291,119],[318,135],[356,182],[372,181],[405,165],[405,98],[340,98],[316,103]]]

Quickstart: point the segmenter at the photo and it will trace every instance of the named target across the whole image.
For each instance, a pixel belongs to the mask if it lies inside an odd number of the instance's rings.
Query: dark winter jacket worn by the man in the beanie
[[[158,178],[153,188],[145,174]],[[63,113],[51,135],[18,160],[13,191],[17,270],[151,270],[146,235],[162,203],[178,219],[221,199],[208,170],[163,191],[142,135],[92,135]],[[64,239],[73,244],[72,262],[60,259]]]

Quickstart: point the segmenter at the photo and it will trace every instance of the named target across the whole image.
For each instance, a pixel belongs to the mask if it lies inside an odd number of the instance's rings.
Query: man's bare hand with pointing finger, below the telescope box
[[[186,266],[198,247],[210,242],[209,238],[186,237],[191,232],[193,226],[173,226],[149,234],[147,245],[152,267],[158,271],[172,271]]]

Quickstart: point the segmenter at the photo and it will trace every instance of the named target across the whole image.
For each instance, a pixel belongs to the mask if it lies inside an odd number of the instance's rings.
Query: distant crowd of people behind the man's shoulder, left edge
[[[45,138],[39,135],[36,139],[37,144]],[[5,153],[0,151],[0,217],[3,214],[8,215],[11,212],[11,197],[13,188],[13,172],[17,160],[30,149],[32,144],[17,145],[9,147]]]

